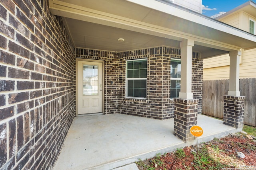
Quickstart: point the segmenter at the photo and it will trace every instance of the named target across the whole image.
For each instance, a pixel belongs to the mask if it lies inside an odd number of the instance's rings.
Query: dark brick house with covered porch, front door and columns
[[[174,117],[174,135],[194,140],[202,60],[230,53],[233,71],[240,49],[256,48],[255,36],[203,16],[201,5],[0,0],[0,169],[51,169],[83,114]],[[224,124],[241,130],[238,72],[230,82]]]

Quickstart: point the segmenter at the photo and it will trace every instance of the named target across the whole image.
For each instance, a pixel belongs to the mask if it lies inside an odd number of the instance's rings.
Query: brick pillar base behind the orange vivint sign
[[[193,141],[190,127],[197,124],[198,99],[174,99],[174,135],[184,142]]]

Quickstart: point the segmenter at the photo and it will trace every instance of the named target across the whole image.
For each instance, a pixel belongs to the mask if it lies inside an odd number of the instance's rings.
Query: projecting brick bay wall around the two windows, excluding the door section
[[[155,47],[119,53],[119,84],[120,113],[168,119],[174,117],[174,100],[170,99],[170,60],[180,59],[180,49],[170,47]],[[200,100],[198,110],[202,107],[202,61],[199,53],[193,53],[192,60],[192,92],[193,98]],[[148,59],[147,99],[125,98],[126,60]],[[199,111],[199,113],[200,113]]]

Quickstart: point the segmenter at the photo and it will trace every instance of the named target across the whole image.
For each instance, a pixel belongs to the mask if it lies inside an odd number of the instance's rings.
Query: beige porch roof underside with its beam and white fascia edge
[[[256,47],[254,35],[155,0],[50,0],[50,10],[64,18],[74,45],[80,48],[179,47],[180,41],[194,39],[193,50],[207,58]]]

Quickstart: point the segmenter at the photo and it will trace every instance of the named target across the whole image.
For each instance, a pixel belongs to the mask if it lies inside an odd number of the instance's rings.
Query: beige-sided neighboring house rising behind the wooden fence
[[[248,1],[215,19],[256,35],[256,3],[252,1]],[[203,80],[229,79],[229,65],[230,57],[228,54],[204,59]],[[242,49],[239,77],[256,78],[256,49]]]

